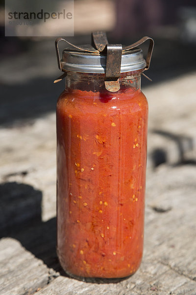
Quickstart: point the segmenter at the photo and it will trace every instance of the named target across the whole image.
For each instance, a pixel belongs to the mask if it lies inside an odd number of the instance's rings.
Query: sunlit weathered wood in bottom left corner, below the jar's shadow
[[[22,247],[19,241],[0,241],[0,294],[33,294],[46,286],[52,272],[44,263]]]

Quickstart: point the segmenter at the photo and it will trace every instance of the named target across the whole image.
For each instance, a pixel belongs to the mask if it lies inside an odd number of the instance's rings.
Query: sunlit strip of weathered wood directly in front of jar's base
[[[48,287],[38,292],[38,295],[194,295],[195,290],[196,282],[176,274],[167,266],[150,261],[143,263],[132,278],[118,284],[95,285],[77,281],[70,282],[69,279],[58,277]]]

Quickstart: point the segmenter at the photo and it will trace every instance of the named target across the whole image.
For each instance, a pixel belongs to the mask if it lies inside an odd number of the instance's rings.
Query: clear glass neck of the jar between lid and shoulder
[[[127,88],[140,90],[141,72],[142,70],[121,73],[119,78],[121,90]],[[67,72],[66,89],[100,92],[105,90],[104,81],[104,74]]]

